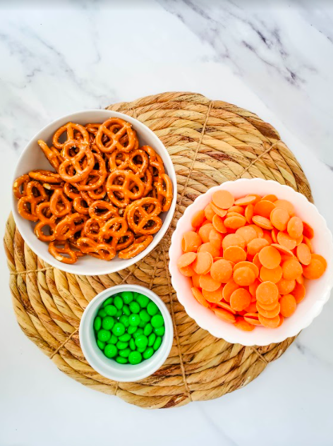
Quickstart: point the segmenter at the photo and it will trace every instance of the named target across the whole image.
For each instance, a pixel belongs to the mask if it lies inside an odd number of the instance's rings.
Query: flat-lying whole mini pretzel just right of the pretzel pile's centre
[[[115,170],[109,174],[107,195],[109,195],[109,199],[117,207],[126,207],[131,201],[138,200],[138,198],[143,196],[144,191],[145,185],[131,171]],[[119,193],[119,196],[116,193]]]

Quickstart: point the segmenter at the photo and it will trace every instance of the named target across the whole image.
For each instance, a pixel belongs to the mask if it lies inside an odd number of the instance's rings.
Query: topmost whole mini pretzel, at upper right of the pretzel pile
[[[114,129],[115,132],[110,130],[110,127],[114,125],[119,126],[119,129]],[[107,138],[109,138],[109,145],[102,142],[102,137],[104,135],[107,135]],[[120,142],[124,135],[128,138],[126,146],[122,145]],[[105,153],[111,153],[116,148],[123,150],[123,152],[130,152],[135,147],[137,139],[135,131],[133,131],[130,123],[123,121],[123,119],[120,118],[110,118],[99,126],[96,135],[96,145]]]

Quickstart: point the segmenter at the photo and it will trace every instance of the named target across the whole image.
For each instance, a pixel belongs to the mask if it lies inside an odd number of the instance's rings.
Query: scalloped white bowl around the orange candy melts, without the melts
[[[249,193],[256,193],[262,196],[272,193],[277,195],[279,199],[289,200],[295,207],[296,215],[310,224],[315,231],[315,237],[311,240],[313,249],[315,253],[325,257],[327,270],[320,279],[306,281],[305,299],[298,304],[291,318],[284,318],[284,323],[278,328],[255,327],[255,330],[252,332],[243,332],[232,324],[220,320],[212,311],[198,303],[190,290],[189,277],[183,276],[178,271],[176,263],[182,254],[181,239],[183,234],[192,229],[191,219],[195,212],[204,209],[212,200],[213,193],[219,189],[231,192],[235,198],[240,198]],[[333,241],[324,217],[320,215],[315,205],[310,203],[304,195],[293,191],[289,186],[277,183],[277,181],[266,181],[263,179],[226,181],[221,186],[211,188],[205,194],[200,195],[192,205],[188,206],[183,217],[178,220],[171,238],[169,258],[172,285],[176,290],[178,301],[184,306],[186,313],[200,327],[210,332],[213,336],[225,339],[233,344],[267,345],[272,342],[282,342],[288,337],[297,335],[320,314],[322,307],[329,299],[329,293],[333,287]]]

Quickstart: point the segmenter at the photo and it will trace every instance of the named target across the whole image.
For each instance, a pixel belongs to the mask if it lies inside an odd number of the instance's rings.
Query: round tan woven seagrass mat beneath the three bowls
[[[9,217],[4,245],[18,323],[63,373],[137,406],[182,406],[233,392],[279,358],[294,338],[246,347],[216,339],[199,328],[171,287],[171,232],[198,195],[224,181],[253,177],[275,180],[312,200],[308,181],[279,133],[235,105],[189,92],[166,92],[108,109],[145,123],[169,150],[178,179],[178,203],[171,228],[152,253],[136,265],[111,275],[86,277],[62,272],[37,258]],[[169,358],[154,375],[140,382],[114,382],[102,377],[87,364],[80,349],[78,327],[88,302],[105,288],[123,283],[155,291],[174,320]]]

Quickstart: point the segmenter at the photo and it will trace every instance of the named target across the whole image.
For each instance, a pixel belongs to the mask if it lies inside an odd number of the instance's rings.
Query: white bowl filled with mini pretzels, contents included
[[[49,265],[104,275],[137,263],[168,229],[177,198],[169,153],[137,119],[79,111],[44,127],[23,150],[13,215]]]

